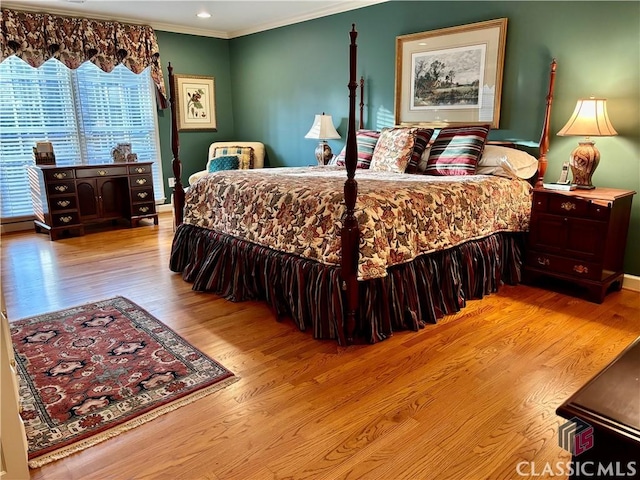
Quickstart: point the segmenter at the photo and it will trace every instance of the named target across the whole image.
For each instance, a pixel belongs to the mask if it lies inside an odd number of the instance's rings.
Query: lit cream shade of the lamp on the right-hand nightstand
[[[573,115],[558,132],[560,136],[608,137],[618,132],[611,125],[604,98],[582,98],[578,100]]]

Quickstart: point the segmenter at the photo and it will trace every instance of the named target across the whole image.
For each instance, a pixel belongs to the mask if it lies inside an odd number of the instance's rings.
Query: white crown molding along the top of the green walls
[[[385,3],[389,0],[353,0],[350,2],[343,3],[341,5],[334,5],[331,7],[319,8],[311,13],[305,15],[298,15],[283,19],[277,22],[269,22],[261,25],[257,25],[254,27],[249,27],[246,29],[234,30],[234,31],[221,31],[221,30],[210,30],[204,28],[194,28],[187,27],[184,25],[174,25],[172,23],[158,23],[141,20],[139,18],[127,18],[127,17],[119,17],[118,15],[104,15],[98,13],[91,12],[83,12],[80,13],[78,11],[72,11],[64,8],[49,8],[42,6],[32,6],[28,3],[14,3],[11,1],[3,1],[3,8],[10,8],[15,10],[23,10],[27,12],[43,12],[49,13],[52,15],[61,15],[61,16],[69,16],[69,17],[87,17],[95,20],[103,20],[103,21],[115,21],[115,22],[123,22],[123,23],[131,23],[137,25],[149,25],[154,30],[161,30],[164,32],[171,33],[182,33],[186,35],[196,35],[199,37],[213,37],[213,38],[222,38],[222,39],[232,39],[236,37],[242,37],[245,35],[251,35],[253,33],[264,32],[267,30],[272,30],[274,28],[285,27],[287,25],[294,25],[296,23],[306,22],[308,20],[313,20],[316,18],[327,17],[330,15],[335,15],[338,13],[344,13],[351,10],[357,10],[359,8],[369,7],[371,5],[376,5],[379,3]],[[318,2],[320,3],[320,2]]]

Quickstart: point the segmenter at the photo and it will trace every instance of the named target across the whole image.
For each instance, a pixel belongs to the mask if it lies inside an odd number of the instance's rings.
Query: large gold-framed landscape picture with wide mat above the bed
[[[397,125],[498,128],[507,19],[396,37]]]

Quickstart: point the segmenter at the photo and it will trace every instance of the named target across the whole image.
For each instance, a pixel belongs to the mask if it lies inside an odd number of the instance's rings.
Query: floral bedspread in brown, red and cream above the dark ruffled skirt
[[[474,175],[435,177],[358,170],[358,279],[419,255],[529,227],[531,187]],[[341,167],[229,170],[201,178],[184,222],[275,250],[340,264],[345,212]]]

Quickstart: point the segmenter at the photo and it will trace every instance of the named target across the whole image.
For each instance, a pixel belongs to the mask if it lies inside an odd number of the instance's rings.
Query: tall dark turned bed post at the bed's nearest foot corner
[[[345,332],[346,343],[352,343],[356,328],[356,314],[358,310],[358,245],[360,243],[360,229],[355,216],[356,198],[358,196],[358,182],[354,179],[357,163],[356,147],[356,32],[355,24],[351,26],[351,45],[349,46],[349,122],[347,127],[347,145],[345,151],[345,165],[347,181],[344,184],[344,202],[346,212],[342,228],[342,289],[346,297]],[[341,337],[342,340],[342,337]]]

